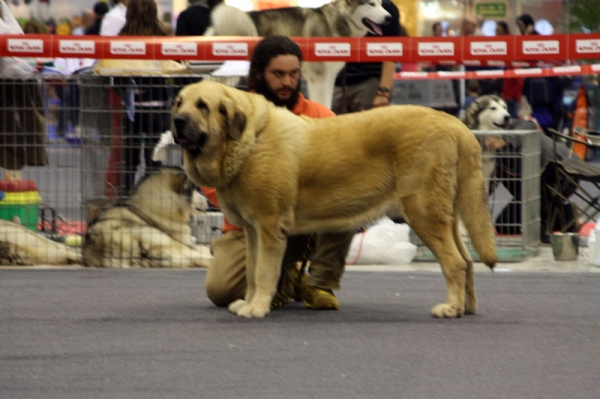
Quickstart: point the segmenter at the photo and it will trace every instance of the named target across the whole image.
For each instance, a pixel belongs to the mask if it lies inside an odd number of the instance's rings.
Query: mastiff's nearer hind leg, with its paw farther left
[[[446,279],[446,302],[435,305],[432,316],[461,317],[465,312],[467,262],[454,238],[457,227],[452,212],[448,212],[450,198],[438,197],[437,201],[438,204],[428,207],[423,205],[422,195],[412,195],[402,200],[402,206],[409,226],[437,258]]]

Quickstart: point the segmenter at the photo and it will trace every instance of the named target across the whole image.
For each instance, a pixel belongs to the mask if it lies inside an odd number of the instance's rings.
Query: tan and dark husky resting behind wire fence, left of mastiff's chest
[[[180,168],[150,173],[122,205],[100,210],[88,226],[83,263],[94,267],[207,267],[210,252],[193,246],[189,219],[205,206]]]

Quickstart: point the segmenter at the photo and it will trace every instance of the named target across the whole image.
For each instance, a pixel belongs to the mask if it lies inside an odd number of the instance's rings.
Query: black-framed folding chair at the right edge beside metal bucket
[[[565,157],[558,140],[565,140],[571,145],[579,143],[588,149],[600,149],[600,132],[575,128],[573,131],[585,138],[580,140],[553,129],[548,129],[553,136],[551,157],[542,172],[542,233],[546,236],[554,231],[561,233],[577,232],[582,224],[595,221],[600,213],[600,165],[583,161],[577,156]],[[582,182],[593,187],[586,189]],[[575,202],[575,199],[580,201]]]

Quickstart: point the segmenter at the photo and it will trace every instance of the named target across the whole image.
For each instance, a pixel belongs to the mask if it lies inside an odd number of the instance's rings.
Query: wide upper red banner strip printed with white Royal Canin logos
[[[520,67],[600,59],[600,34],[292,38],[305,61]],[[249,60],[258,37],[0,35],[0,57]]]

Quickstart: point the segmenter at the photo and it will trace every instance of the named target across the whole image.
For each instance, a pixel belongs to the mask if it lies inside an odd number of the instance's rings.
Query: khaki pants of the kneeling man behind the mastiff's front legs
[[[310,256],[308,285],[322,289],[340,289],[346,254],[354,232],[318,234],[316,248]],[[288,239],[283,267],[301,262],[308,236]],[[206,294],[217,306],[227,306],[246,294],[246,236],[233,230],[213,241],[213,260],[206,274]]]

